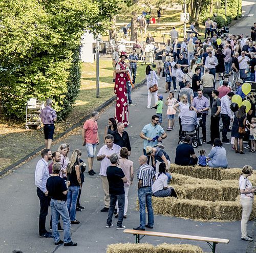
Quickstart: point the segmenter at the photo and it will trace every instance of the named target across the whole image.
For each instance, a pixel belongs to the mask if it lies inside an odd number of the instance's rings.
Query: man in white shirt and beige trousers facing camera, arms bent
[[[114,144],[114,137],[112,134],[105,136],[105,144],[100,148],[97,154],[97,160],[100,162],[100,179],[102,181],[102,187],[104,191],[104,208],[100,212],[108,212],[110,208],[110,193],[109,193],[109,181],[106,177],[106,168],[111,165],[110,156],[112,154],[119,154],[121,147]]]

